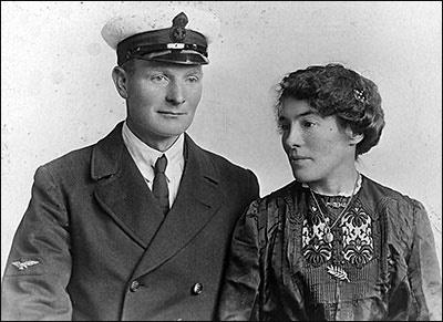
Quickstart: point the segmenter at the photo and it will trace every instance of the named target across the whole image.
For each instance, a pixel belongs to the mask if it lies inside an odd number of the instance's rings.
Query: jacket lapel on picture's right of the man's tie
[[[133,278],[148,273],[186,247],[216,214],[224,199],[213,162],[186,134],[185,146],[187,160],[177,198]]]

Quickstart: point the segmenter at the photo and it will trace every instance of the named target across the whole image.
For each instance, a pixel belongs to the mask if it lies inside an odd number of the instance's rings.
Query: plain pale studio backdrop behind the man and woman
[[[385,112],[359,169],[424,204],[441,262],[442,2],[2,1],[2,274],[37,167],[96,143],[126,116],[104,22],[175,3],[213,11],[222,27],[188,129],[198,144],[253,169],[261,196],[288,184],[272,87],[290,71],[342,63],[379,85]]]

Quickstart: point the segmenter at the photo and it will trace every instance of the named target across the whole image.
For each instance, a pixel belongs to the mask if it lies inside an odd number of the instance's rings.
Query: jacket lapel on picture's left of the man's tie
[[[100,141],[92,154],[95,197],[114,221],[146,248],[163,220],[157,201],[124,146],[122,124]]]

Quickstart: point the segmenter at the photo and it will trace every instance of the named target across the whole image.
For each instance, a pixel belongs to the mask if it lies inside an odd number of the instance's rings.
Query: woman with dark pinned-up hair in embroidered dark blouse
[[[285,76],[276,104],[295,181],[234,232],[220,320],[441,320],[421,202],[360,174],[380,139],[377,85],[339,64]]]

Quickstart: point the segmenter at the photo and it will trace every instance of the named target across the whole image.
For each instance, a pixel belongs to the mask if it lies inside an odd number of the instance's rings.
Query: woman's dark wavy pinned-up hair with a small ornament
[[[321,116],[336,115],[341,126],[363,134],[356,157],[380,141],[384,115],[377,85],[341,64],[312,65],[292,72],[281,80],[277,92],[277,120],[282,101],[290,97],[307,101]]]

